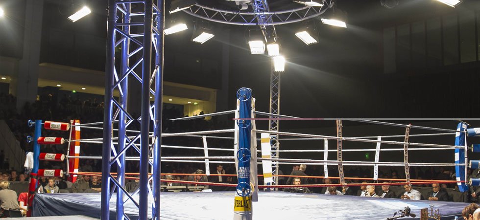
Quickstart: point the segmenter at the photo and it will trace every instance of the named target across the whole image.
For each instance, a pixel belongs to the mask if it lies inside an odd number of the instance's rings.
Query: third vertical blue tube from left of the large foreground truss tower
[[[142,72],[142,119],[140,125],[140,198],[139,220],[148,218],[148,163],[150,145],[150,74],[152,63],[153,0],[145,0],[144,61]]]

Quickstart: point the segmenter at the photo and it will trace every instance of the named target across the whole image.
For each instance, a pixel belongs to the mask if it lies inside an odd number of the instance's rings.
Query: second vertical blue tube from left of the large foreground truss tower
[[[123,14],[123,23],[130,23],[130,9],[131,5],[126,4],[125,5],[125,14]],[[130,26],[125,25],[122,27],[123,32],[126,34],[130,34]],[[130,40],[128,38],[124,38],[123,42],[121,44],[121,67],[120,67],[120,72],[121,76],[125,76],[128,71],[128,64],[129,64],[129,57],[128,53],[130,52]],[[124,110],[128,110],[128,76],[125,76],[123,81],[121,81],[121,90],[120,92],[120,106],[123,107]],[[125,149],[125,136],[126,136],[126,114],[123,111],[120,111],[119,115],[119,145],[118,149],[120,152],[126,150]],[[120,165],[117,166],[117,181],[119,182],[119,185],[121,187],[125,187],[125,154],[120,154],[119,156],[119,161]],[[118,190],[117,191],[117,219],[121,220],[123,219],[123,191]]]

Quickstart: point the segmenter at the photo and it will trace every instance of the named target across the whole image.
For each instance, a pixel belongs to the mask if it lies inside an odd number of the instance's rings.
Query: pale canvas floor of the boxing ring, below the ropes
[[[235,192],[161,193],[163,220],[231,220]],[[133,198],[138,199],[138,196]],[[151,199],[151,198],[149,198]],[[115,196],[111,202],[115,202]],[[321,194],[295,194],[279,191],[260,191],[259,201],[253,203],[253,219],[269,220],[385,220],[393,213],[411,208],[419,220],[420,209],[430,204],[440,210],[442,220],[461,219],[461,210],[467,203],[429,200],[402,200],[366,198]],[[110,219],[115,220],[115,205],[110,206]],[[149,209],[148,218],[151,218]],[[138,218],[138,209],[128,201],[125,215]],[[100,218],[100,194],[37,194],[33,216],[84,215]]]

